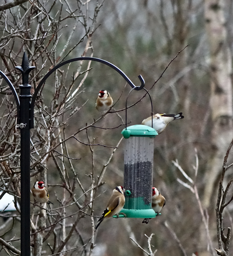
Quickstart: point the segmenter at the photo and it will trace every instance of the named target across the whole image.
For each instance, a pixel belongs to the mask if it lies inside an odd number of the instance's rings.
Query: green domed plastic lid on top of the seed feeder
[[[136,124],[128,126],[127,129],[124,128],[121,134],[123,134],[123,137],[125,139],[128,139],[130,136],[154,138],[156,135],[158,135],[158,132],[156,132],[156,130],[154,130],[154,128],[151,128],[150,126]]]

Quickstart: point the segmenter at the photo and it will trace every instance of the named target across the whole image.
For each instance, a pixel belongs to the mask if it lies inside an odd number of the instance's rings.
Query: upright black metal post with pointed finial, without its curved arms
[[[22,73],[20,85],[20,174],[21,174],[21,255],[30,256],[30,100],[31,88],[28,84],[28,57],[24,52],[22,66],[17,66]]]

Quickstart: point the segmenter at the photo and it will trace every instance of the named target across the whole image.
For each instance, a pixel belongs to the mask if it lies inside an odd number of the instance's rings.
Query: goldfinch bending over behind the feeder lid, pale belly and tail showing
[[[151,127],[151,116],[144,119],[142,121],[142,124],[150,126]],[[182,119],[184,116],[182,116],[182,112],[178,114],[155,114],[153,115],[153,128],[160,134],[164,131],[166,126],[172,122],[173,120]]]

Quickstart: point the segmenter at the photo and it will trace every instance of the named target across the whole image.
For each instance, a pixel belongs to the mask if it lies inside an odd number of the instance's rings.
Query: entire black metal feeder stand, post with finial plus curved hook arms
[[[28,77],[30,71],[32,71],[34,66],[29,66],[27,54],[24,52],[22,59],[22,65],[16,68],[22,73],[22,85],[20,85],[20,97],[16,93],[16,90],[8,79],[8,77],[0,71],[0,75],[7,82],[14,95],[16,106],[17,106],[17,128],[20,128],[20,173],[21,173],[21,255],[30,256],[30,129],[34,126],[34,105],[36,102],[36,97],[41,89],[41,86],[45,83],[45,80],[58,68],[68,64],[70,62],[78,60],[93,60],[96,62],[101,62],[107,66],[110,66],[116,70],[126,82],[134,90],[142,90],[145,86],[144,79],[142,76],[138,76],[141,85],[135,86],[132,81],[115,65],[107,62],[106,60],[101,60],[99,58],[92,57],[80,57],[66,60],[59,63],[57,66],[52,68],[39,82],[37,88],[35,89],[34,95],[31,95],[32,86],[28,84]]]

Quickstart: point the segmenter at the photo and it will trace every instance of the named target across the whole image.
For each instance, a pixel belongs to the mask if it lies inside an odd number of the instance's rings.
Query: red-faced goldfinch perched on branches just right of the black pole
[[[32,188],[32,194],[34,199],[41,204],[53,204],[51,201],[49,201],[49,193],[47,188],[45,188],[43,181],[35,182],[34,187]]]

